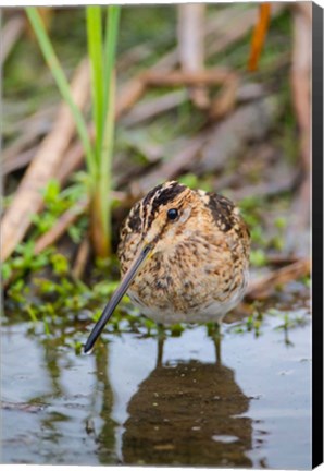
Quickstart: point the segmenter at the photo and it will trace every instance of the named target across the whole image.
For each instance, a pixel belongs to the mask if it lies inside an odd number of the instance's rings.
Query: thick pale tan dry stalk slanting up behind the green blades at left
[[[75,102],[83,108],[89,95],[88,62],[83,61],[77,68],[72,82],[72,94]],[[64,159],[64,153],[75,132],[67,105],[60,106],[52,132],[42,141],[38,152],[28,167],[18,186],[10,208],[1,221],[1,261],[5,261],[23,240],[28,230],[32,214],[42,206],[41,190],[47,182],[57,176]]]

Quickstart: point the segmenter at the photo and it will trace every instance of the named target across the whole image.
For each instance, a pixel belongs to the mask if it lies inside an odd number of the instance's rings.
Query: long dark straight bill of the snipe
[[[141,264],[147,258],[147,256],[149,255],[150,252],[151,252],[151,246],[146,245],[139,252],[139,254],[135,257],[135,261],[133,262],[133,264],[130,265],[130,267],[126,271],[124,278],[122,279],[120,287],[113,293],[111,300],[109,301],[109,303],[104,307],[100,319],[97,322],[91,334],[89,335],[88,340],[87,340],[85,348],[84,348],[85,353],[89,353],[89,351],[92,349],[96,340],[100,336],[102,329],[104,328],[105,324],[110,319],[110,317],[111,317],[112,313],[114,312],[115,307],[117,306],[119,302],[121,301],[121,299],[123,298],[123,295],[127,291],[129,285],[134,280],[139,267],[141,266]]]

